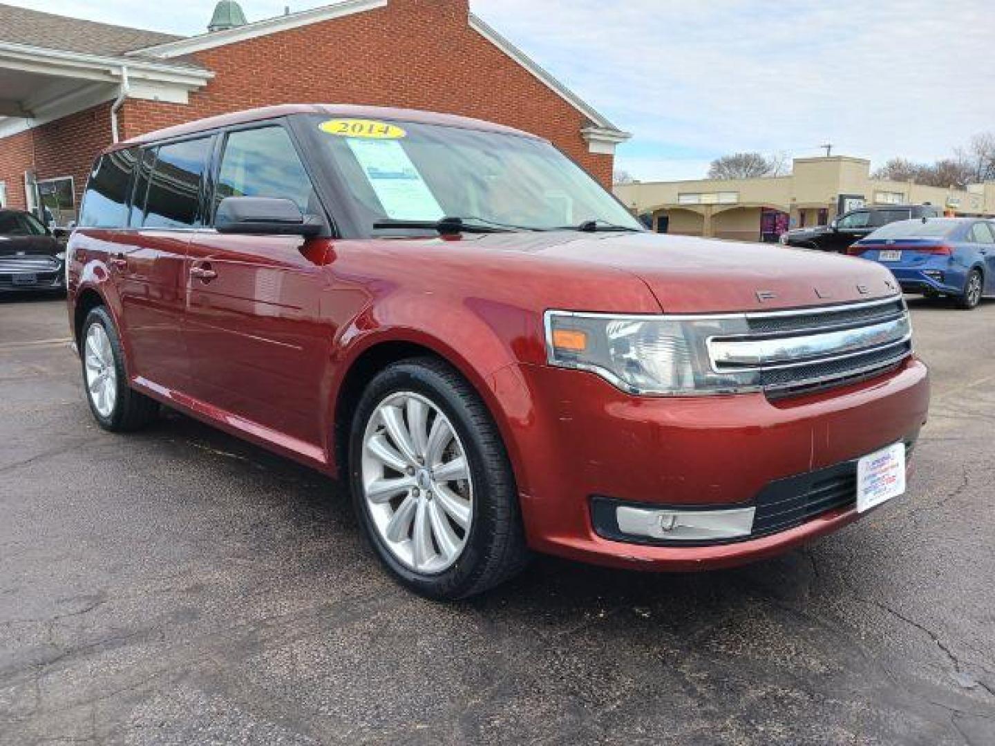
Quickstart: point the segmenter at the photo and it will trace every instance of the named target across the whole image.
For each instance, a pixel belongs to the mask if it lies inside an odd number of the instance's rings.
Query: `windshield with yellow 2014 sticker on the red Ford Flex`
[[[363,227],[462,218],[519,230],[597,221],[643,230],[579,166],[542,140],[476,129],[314,117]]]

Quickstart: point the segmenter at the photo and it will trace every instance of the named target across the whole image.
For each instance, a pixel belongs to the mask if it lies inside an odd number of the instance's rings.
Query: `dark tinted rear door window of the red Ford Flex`
[[[201,225],[200,182],[210,152],[210,137],[158,148],[148,183],[143,227],[196,228]]]

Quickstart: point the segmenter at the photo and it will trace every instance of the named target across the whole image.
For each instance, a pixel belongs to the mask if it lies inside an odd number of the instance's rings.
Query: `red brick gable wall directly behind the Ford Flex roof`
[[[128,137],[272,103],[360,103],[497,121],[546,137],[610,187],[573,106],[469,26],[467,0],[390,0],[386,8],[232,44],[195,57],[215,79],[190,105],[128,100]]]

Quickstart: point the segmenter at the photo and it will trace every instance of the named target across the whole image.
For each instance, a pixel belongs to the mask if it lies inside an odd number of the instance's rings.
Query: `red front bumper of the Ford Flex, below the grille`
[[[525,367],[532,401],[541,403],[528,430],[543,434],[514,449],[527,485],[521,504],[531,546],[640,569],[749,562],[855,520],[856,489],[844,483],[844,472],[867,454],[914,443],[929,398],[925,366],[915,359],[870,381],[781,401],[762,394],[630,397],[591,374]],[[830,499],[802,499],[830,477],[842,480],[828,487]],[[691,509],[750,506],[771,489],[800,501],[786,520],[744,540],[698,546],[613,534],[597,525],[594,507],[599,497]]]

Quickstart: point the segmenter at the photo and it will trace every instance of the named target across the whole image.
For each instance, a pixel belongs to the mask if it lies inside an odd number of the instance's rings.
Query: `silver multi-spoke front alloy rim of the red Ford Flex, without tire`
[[[474,516],[467,452],[426,397],[394,393],[363,434],[363,498],[380,538],[405,567],[438,574],[460,558]]]

